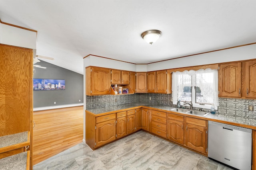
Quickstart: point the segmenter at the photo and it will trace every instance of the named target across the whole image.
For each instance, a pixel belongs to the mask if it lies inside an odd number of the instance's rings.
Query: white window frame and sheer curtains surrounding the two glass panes
[[[208,69],[206,69],[206,70],[203,70],[203,69],[200,69],[200,70],[198,70],[198,71],[195,71],[195,70],[190,70],[190,71],[184,71],[184,74],[189,74],[190,76],[192,76],[192,78],[191,78],[191,84],[192,84],[192,96],[191,96],[191,98],[192,98],[192,104],[193,104],[193,107],[198,107],[198,108],[204,108],[204,109],[210,109],[211,108],[211,104],[204,104],[204,105],[201,105],[201,104],[199,104],[199,103],[196,103],[196,89],[195,89],[195,73],[197,73],[197,72],[209,72],[209,70],[212,70],[212,69],[210,69],[210,68],[208,68]],[[219,106],[219,104],[218,104],[218,70],[212,70],[212,71],[210,71],[210,72],[214,72],[214,94],[212,94],[212,95],[214,95],[214,106],[215,106],[215,109],[218,109],[218,106]],[[174,89],[175,89],[175,82],[173,82],[173,81],[176,81],[175,80],[175,75],[174,75],[175,73],[173,72],[173,78],[172,78],[172,97],[173,97],[173,104],[177,104],[177,97],[176,97],[176,93],[174,92]],[[188,102],[188,103],[190,103],[190,101],[186,101],[186,102]],[[188,104],[186,104],[186,105],[184,105],[184,103],[185,103],[185,101],[180,101],[180,104],[181,104],[181,106],[189,106]]]

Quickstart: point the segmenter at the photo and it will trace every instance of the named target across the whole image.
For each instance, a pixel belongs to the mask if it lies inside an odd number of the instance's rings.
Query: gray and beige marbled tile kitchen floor
[[[34,170],[231,170],[196,152],[138,131],[96,150],[80,143]]]

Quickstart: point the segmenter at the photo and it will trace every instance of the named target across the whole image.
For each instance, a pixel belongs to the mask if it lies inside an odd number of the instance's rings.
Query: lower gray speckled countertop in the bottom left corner
[[[0,159],[0,170],[26,170],[27,152]]]

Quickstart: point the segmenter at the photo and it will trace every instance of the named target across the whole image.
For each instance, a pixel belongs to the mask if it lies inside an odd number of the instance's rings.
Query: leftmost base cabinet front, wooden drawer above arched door
[[[116,139],[116,113],[96,117],[96,147]]]

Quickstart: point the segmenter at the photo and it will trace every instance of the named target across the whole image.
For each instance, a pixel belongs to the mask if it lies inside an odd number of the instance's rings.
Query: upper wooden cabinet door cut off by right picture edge
[[[246,98],[256,98],[256,61],[245,62],[244,95]]]

